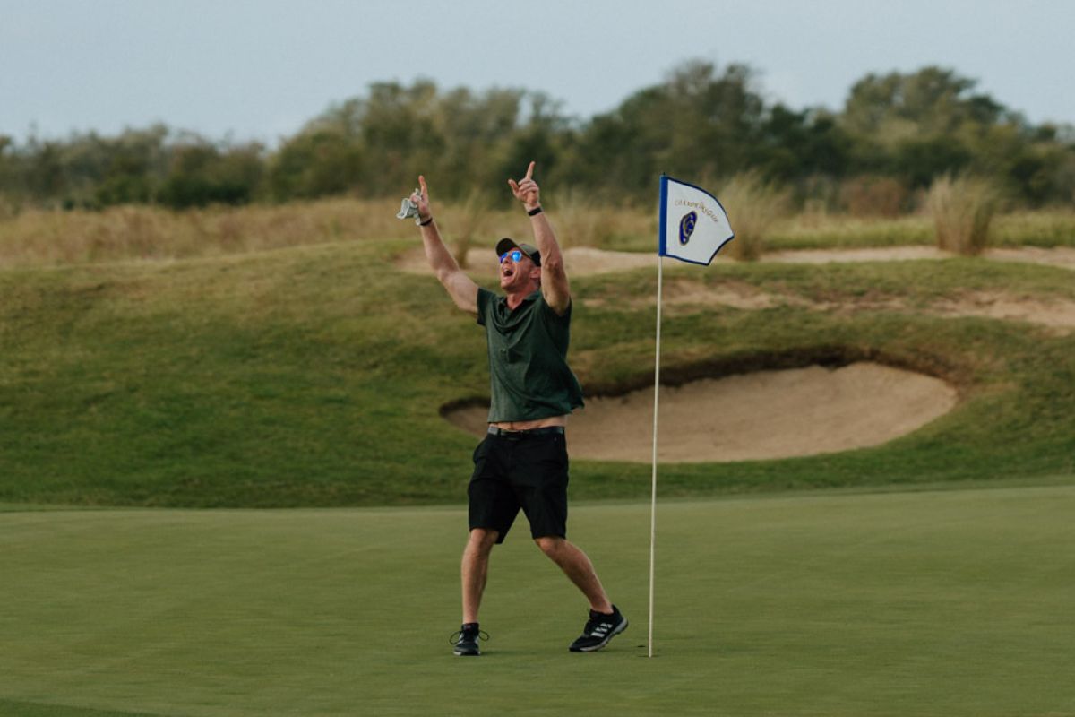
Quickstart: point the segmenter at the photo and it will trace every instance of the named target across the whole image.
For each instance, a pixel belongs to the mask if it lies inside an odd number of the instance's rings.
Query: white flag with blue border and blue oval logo
[[[658,254],[708,264],[735,232],[717,198],[701,187],[661,174],[661,240]]]

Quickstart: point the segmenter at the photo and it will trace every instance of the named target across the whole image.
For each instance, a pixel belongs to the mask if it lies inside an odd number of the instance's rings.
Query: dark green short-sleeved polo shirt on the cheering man
[[[477,322],[489,347],[489,422],[562,416],[583,405],[568,365],[571,306],[563,316],[534,291],[515,311],[507,298],[479,288]]]

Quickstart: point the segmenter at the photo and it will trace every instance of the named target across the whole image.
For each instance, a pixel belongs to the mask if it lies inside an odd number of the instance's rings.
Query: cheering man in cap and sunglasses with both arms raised
[[[627,628],[627,618],[608,601],[586,554],[565,539],[568,520],[568,415],[583,405],[582,388],[567,363],[571,290],[563,256],[542,211],[533,178],[508,180],[530,216],[536,246],[502,239],[500,288],[478,288],[444,246],[429,205],[426,178],[411,196],[418,206],[421,239],[436,278],[462,311],[485,327],[492,400],[489,431],[474,451],[470,499],[470,539],[463,550],[463,623],[454,653],[479,655],[478,607],[492,546],[502,543],[519,508],[530,521],[538,547],[567,574],[590,603],[583,634],[570,649],[590,653]]]

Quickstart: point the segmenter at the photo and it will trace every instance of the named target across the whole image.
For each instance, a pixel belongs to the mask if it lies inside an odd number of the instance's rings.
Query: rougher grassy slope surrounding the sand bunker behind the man
[[[393,255],[410,246],[0,272],[0,501],[458,502],[473,439],[438,408],[487,395],[484,336],[435,281],[395,268]],[[670,381],[871,358],[948,378],[962,396],[950,414],[877,448],[669,463],[669,494],[1075,473],[1075,335],[919,311],[976,290],[1075,300],[1070,271],[952,259],[666,273],[779,299],[763,311],[670,313]],[[650,382],[654,309],[639,300],[656,295],[653,272],[578,277],[573,289],[571,360],[584,386]],[[802,299],[845,310],[811,310]],[[579,461],[573,471],[579,498],[637,499],[649,469]]]

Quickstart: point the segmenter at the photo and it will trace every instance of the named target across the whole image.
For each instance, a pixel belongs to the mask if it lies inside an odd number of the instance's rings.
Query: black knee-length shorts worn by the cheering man
[[[470,529],[491,528],[503,543],[519,508],[532,537],[568,534],[568,447],[563,433],[487,435],[474,449],[467,488]]]

